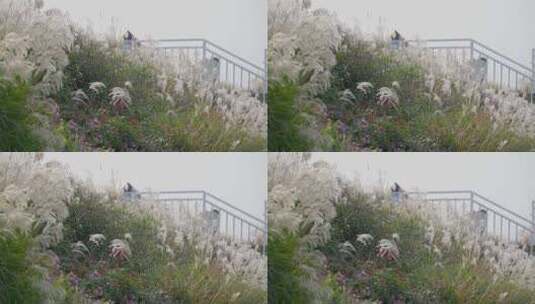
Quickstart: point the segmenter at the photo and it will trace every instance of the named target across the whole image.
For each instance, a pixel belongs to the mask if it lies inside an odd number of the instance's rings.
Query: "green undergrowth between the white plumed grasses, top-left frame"
[[[69,54],[64,86],[58,94],[62,118],[69,122],[71,149],[263,150],[265,139],[261,136],[228,126],[222,113],[201,111],[211,104],[192,88],[186,87],[183,94],[175,92],[170,104],[169,98],[162,97],[162,89],[169,91],[179,84],[170,81],[160,88],[156,66],[129,59],[115,48],[104,48],[83,33],[75,37],[79,49]],[[129,86],[131,103],[124,107],[110,103],[105,88],[90,91],[87,100],[82,95],[81,101],[73,102],[73,92],[87,91],[96,80],[108,88]]]

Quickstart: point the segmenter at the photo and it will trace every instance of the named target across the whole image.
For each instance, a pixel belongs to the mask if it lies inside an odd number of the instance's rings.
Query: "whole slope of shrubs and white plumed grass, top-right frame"
[[[535,149],[526,91],[477,81],[471,62],[393,49],[310,1],[270,0],[269,18],[270,151]]]

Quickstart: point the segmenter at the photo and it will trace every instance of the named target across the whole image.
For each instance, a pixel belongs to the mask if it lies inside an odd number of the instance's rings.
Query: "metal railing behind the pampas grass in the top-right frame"
[[[500,89],[522,90],[527,85],[528,100],[533,102],[535,93],[535,49],[532,50],[532,66],[528,67],[474,39],[410,40],[409,45],[430,49],[436,56],[446,56],[457,63],[484,60],[484,78]]]

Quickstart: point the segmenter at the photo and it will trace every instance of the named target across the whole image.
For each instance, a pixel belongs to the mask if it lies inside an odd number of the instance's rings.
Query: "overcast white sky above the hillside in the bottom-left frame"
[[[138,190],[205,190],[263,219],[266,153],[45,153],[98,186],[126,182]]]

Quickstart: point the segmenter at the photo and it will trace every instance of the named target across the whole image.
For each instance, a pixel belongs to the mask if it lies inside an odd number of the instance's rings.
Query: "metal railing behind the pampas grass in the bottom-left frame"
[[[262,240],[262,251],[267,244],[267,222],[247,211],[233,206],[206,191],[142,192],[141,198],[149,198],[167,204],[171,212],[190,216],[208,216],[217,211],[217,233],[235,242]]]

